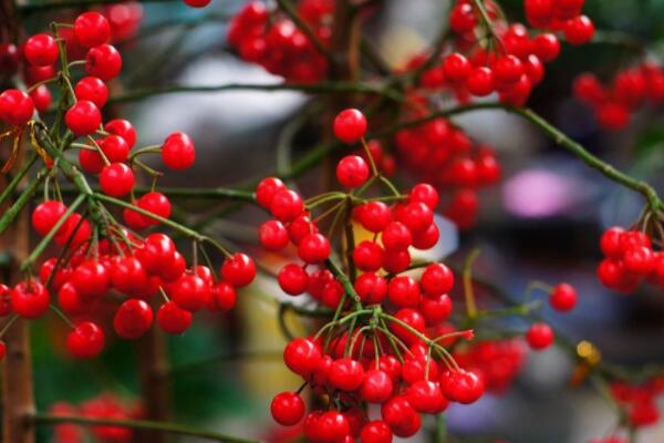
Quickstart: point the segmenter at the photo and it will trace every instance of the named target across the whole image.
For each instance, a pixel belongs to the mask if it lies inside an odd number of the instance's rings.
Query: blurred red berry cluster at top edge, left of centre
[[[297,12],[318,39],[329,44],[334,2],[300,0]],[[289,18],[268,11],[262,1],[247,3],[231,20],[228,42],[242,59],[288,81],[313,83],[328,72],[325,58],[308,35]]]

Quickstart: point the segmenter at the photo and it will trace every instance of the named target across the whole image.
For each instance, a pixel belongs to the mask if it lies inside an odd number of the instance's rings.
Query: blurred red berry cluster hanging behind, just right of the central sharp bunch
[[[500,178],[494,150],[475,145],[461,128],[443,117],[400,131],[395,146],[418,179],[449,194],[443,213],[461,229],[473,227],[479,212],[478,189]]]

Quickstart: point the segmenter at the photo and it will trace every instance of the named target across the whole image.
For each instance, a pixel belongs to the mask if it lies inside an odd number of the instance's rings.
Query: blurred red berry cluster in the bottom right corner
[[[651,426],[660,421],[657,396],[664,394],[664,380],[653,379],[641,384],[616,381],[611,396],[625,411],[632,426]]]

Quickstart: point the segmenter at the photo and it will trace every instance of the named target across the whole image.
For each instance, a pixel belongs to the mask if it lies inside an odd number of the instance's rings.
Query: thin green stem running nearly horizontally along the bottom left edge
[[[111,419],[91,419],[77,415],[55,415],[48,413],[37,413],[31,416],[35,423],[74,423],[85,426],[120,426],[141,430],[162,431],[169,434],[189,435],[199,439],[211,440],[216,442],[236,442],[236,443],[255,443],[256,440],[242,439],[232,435],[220,434],[212,431],[206,431],[188,424],[153,422],[147,420],[111,420]]]

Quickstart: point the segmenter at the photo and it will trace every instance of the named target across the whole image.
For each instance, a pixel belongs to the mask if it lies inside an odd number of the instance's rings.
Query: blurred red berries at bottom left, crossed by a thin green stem
[[[103,393],[77,405],[58,402],[51,405],[49,412],[53,415],[80,415],[86,419],[102,420],[141,420],[144,416],[141,403],[125,403],[111,393]],[[91,426],[90,431],[95,441],[103,443],[128,443],[134,434],[131,427],[112,425]],[[53,437],[58,443],[87,441],[83,429],[72,423],[55,425]]]

